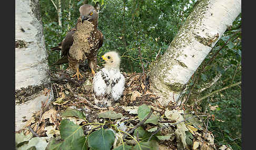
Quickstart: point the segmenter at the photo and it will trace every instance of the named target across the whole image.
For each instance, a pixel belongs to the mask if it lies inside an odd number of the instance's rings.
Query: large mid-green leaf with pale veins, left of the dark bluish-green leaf
[[[64,119],[61,121],[60,133],[61,138],[64,139],[63,149],[69,150],[73,149],[73,147],[77,147],[77,140],[80,140],[84,136],[82,127],[74,124],[68,119]],[[83,147],[83,145],[83,143],[80,143],[80,145],[78,146]]]

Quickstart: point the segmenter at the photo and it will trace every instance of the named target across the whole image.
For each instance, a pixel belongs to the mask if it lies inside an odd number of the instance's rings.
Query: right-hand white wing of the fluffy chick
[[[111,89],[110,96],[114,101],[117,101],[123,94],[125,78],[123,74],[119,71],[114,74],[112,79],[113,79],[111,83],[112,89]]]

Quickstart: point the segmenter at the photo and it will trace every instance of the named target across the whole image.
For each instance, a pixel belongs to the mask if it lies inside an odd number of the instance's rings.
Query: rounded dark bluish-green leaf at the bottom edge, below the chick
[[[94,131],[88,136],[88,146],[92,149],[110,149],[115,141],[115,135],[111,130],[105,130],[104,128],[98,131]]]

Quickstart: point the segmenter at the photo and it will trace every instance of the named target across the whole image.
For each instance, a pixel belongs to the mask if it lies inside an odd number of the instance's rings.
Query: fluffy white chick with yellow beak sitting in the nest
[[[120,57],[117,52],[110,51],[102,56],[104,68],[93,78],[93,93],[95,104],[100,107],[111,106],[123,94],[124,76],[120,72]]]

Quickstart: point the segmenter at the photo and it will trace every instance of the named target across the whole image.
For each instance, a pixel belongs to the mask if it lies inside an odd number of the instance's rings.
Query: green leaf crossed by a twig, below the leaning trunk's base
[[[143,104],[141,106],[139,106],[139,109],[138,109],[138,116],[139,116],[139,120],[142,121],[146,116],[147,114],[150,113],[150,107]],[[147,119],[144,124],[146,123],[153,123],[153,124],[157,124],[159,121],[159,117],[157,117],[155,114],[152,114],[149,119]]]

